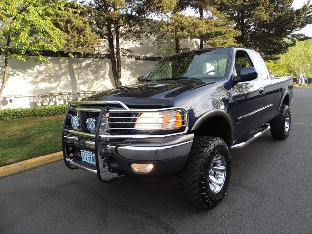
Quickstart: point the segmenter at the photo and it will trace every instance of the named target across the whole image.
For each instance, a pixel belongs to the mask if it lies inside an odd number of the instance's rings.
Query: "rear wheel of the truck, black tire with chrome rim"
[[[282,105],[279,115],[270,122],[271,135],[274,139],[284,140],[291,130],[291,111],[288,105]]]

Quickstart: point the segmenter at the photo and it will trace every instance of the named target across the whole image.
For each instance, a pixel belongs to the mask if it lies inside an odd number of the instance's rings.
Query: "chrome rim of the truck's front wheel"
[[[224,156],[216,155],[209,168],[208,184],[210,191],[217,194],[222,189],[226,176],[226,161]]]

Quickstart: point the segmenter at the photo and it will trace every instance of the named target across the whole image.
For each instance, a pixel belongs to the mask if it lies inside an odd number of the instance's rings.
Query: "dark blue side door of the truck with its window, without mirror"
[[[243,67],[255,67],[246,51],[235,54],[233,76],[239,75]],[[232,85],[234,102],[234,139],[239,139],[262,126],[265,103],[265,90],[260,76],[252,81],[238,82]]]

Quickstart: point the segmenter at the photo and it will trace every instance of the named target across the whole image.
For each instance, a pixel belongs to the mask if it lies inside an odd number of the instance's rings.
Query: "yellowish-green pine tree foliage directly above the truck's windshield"
[[[165,0],[164,0],[165,1]],[[192,9],[195,15],[186,14]],[[168,8],[158,11],[159,31],[176,42],[176,53],[182,52],[183,39],[200,39],[199,48],[237,45],[234,40],[239,32],[234,30],[233,22],[223,13],[209,6],[209,0],[176,0]],[[167,43],[168,44],[168,43]]]

